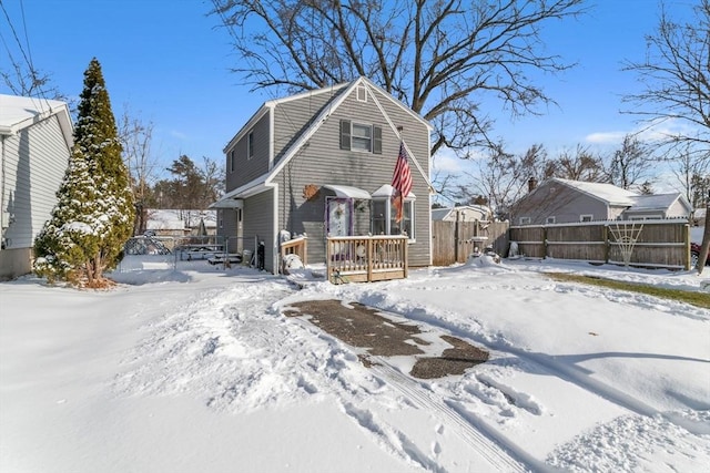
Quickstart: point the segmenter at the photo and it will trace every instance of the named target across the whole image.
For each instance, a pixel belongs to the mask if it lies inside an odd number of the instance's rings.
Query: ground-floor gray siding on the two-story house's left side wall
[[[253,249],[254,241],[264,241],[265,269],[278,273],[275,266],[274,193],[266,191],[244,200],[244,248]]]

